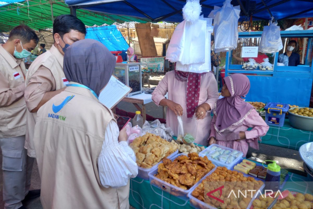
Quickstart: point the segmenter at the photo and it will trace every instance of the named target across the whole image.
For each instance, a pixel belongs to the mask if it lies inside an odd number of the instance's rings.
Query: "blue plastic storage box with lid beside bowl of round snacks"
[[[289,110],[288,104],[269,102],[265,107],[265,122],[271,126],[282,127],[285,121],[285,114]]]

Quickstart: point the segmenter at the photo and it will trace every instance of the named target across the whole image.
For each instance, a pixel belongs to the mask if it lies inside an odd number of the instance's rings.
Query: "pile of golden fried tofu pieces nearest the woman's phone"
[[[129,146],[136,154],[137,165],[142,168],[151,168],[178,148],[175,142],[168,142],[152,133],[135,138]]]

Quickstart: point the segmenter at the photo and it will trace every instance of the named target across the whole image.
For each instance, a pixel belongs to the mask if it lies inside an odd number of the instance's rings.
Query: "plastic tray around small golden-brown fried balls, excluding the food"
[[[215,170],[215,169],[214,169]],[[200,182],[202,182],[207,176],[211,175],[212,172],[208,173],[207,175],[205,175],[198,183],[198,185],[200,184]],[[249,175],[246,175],[244,174],[245,177],[253,177],[253,176],[249,176]],[[255,180],[258,180],[258,178],[254,178]],[[198,186],[197,185],[197,186]],[[263,193],[263,190],[264,190],[264,187],[265,187],[265,184],[263,183],[263,185],[260,187],[260,191],[261,193]],[[209,205],[207,203],[204,203],[203,201],[200,201],[198,200],[197,198],[195,198],[194,196],[191,195],[192,191],[195,190],[197,187],[194,186],[192,187],[192,190],[188,193],[188,197],[189,197],[189,201],[190,201],[190,206],[192,206],[193,208],[209,208],[209,209],[217,209],[216,207],[212,206],[212,205]],[[249,205],[247,206],[247,209],[249,209],[253,203],[253,201],[259,197],[260,195],[260,192],[257,192],[254,197],[251,199]]]

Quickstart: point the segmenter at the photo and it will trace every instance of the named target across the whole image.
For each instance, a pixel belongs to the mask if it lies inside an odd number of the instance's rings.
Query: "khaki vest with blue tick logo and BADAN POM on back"
[[[43,208],[129,207],[129,182],[120,188],[100,182],[97,159],[111,120],[113,113],[80,87],[67,87],[38,110],[34,147]]]

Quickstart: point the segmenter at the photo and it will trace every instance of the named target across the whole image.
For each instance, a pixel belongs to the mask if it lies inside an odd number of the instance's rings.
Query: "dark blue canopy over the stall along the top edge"
[[[223,6],[224,0],[200,0],[204,17],[214,6]],[[71,11],[82,8],[94,12],[147,18],[151,22],[182,22],[182,8],[186,0],[65,0]],[[240,5],[241,19],[276,20],[313,17],[313,0],[232,0]],[[301,5],[301,6],[300,6]]]

